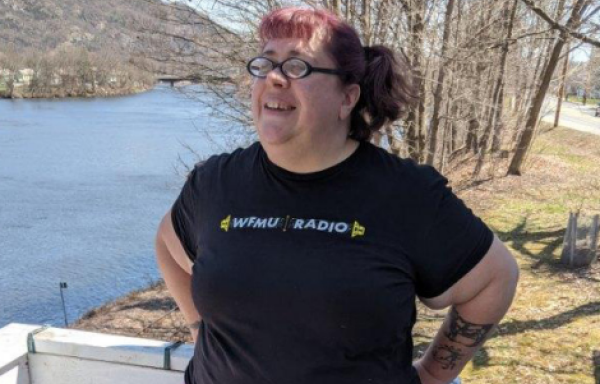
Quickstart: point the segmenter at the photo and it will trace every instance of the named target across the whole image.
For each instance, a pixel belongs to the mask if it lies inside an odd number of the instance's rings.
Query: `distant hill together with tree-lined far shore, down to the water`
[[[2,97],[129,93],[165,75],[237,84],[251,50],[184,1],[0,0]]]

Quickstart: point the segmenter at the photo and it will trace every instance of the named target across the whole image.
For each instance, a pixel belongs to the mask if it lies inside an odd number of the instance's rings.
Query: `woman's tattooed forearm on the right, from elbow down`
[[[448,383],[459,375],[508,311],[515,288],[516,281],[493,282],[472,300],[450,308],[425,355],[415,363],[429,376],[423,384]]]

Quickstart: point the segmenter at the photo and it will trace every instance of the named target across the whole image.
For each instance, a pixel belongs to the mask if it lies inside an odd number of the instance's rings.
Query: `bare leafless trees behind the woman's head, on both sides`
[[[332,10],[414,75],[418,105],[374,141],[442,171],[468,162],[473,178],[506,158],[503,172],[521,174],[549,92],[564,94],[570,76],[588,88],[600,80],[599,0],[148,1],[153,17],[136,23],[153,50],[140,62],[203,81],[198,99],[243,126],[261,17],[286,5]],[[590,60],[569,66],[582,45]]]

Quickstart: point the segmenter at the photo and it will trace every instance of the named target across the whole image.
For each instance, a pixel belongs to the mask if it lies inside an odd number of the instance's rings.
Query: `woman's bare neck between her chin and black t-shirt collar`
[[[309,145],[267,145],[262,146],[269,160],[277,166],[295,173],[319,172],[341,163],[358,147],[358,142],[346,137],[335,140],[322,140]]]

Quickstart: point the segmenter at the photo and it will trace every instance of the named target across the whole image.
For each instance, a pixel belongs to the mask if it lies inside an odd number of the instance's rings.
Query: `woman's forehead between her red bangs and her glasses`
[[[276,38],[269,39],[262,50],[265,56],[276,58],[286,58],[290,56],[304,56],[318,62],[328,62],[329,57],[321,39],[300,39],[300,38]]]

